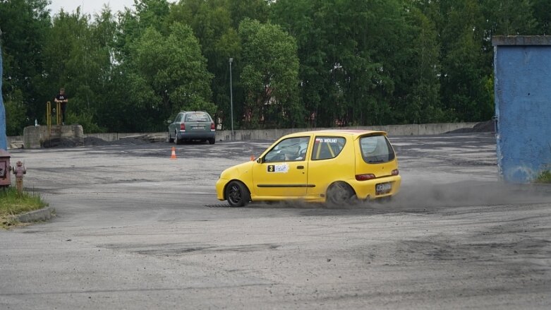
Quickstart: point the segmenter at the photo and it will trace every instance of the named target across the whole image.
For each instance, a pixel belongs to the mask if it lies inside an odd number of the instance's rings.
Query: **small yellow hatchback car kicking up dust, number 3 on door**
[[[341,205],[390,197],[400,182],[387,133],[325,130],[279,138],[256,160],[224,170],[216,191],[231,207],[293,199]]]

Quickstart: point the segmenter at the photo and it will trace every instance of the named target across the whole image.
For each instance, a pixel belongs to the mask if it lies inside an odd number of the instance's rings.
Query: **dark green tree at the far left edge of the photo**
[[[47,0],[0,1],[0,37],[4,49],[7,134],[23,132],[44,114],[42,47],[50,28]],[[22,113],[23,112],[23,113]],[[27,115],[28,117],[24,117]]]

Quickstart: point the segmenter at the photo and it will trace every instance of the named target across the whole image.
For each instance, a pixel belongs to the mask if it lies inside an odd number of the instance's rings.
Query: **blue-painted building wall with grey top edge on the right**
[[[496,36],[497,165],[505,181],[551,170],[551,36]]]

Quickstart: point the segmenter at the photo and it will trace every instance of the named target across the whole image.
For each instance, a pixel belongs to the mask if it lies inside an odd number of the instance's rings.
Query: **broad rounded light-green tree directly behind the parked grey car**
[[[164,37],[145,30],[132,47],[127,76],[128,99],[147,119],[142,130],[164,129],[164,121],[181,109],[215,112],[206,60],[188,25],[174,23]]]

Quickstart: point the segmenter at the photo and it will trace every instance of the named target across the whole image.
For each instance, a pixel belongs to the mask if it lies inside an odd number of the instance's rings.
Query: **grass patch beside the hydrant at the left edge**
[[[11,219],[11,215],[38,210],[47,205],[38,194],[26,191],[18,193],[14,187],[0,189],[0,227],[6,228],[17,224]]]

